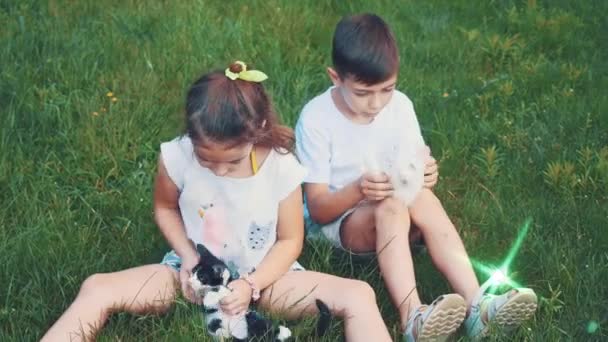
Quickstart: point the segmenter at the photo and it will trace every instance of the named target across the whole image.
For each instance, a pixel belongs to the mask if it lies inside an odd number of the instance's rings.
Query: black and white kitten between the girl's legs
[[[291,337],[289,328],[274,324],[254,310],[240,316],[224,313],[220,301],[230,294],[226,286],[233,278],[226,264],[198,244],[196,249],[200,262],[192,269],[190,284],[197,295],[203,296],[202,311],[210,335],[216,338],[232,338],[235,341],[265,340],[286,341]],[[317,300],[321,317],[317,324],[317,335],[322,335],[329,327],[331,314],[329,308]]]

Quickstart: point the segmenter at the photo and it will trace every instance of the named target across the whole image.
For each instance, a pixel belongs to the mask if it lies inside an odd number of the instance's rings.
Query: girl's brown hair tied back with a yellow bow
[[[238,73],[241,65],[233,63]],[[203,75],[186,97],[186,134],[194,143],[254,143],[293,151],[293,130],[279,123],[261,83],[231,80],[224,71]]]

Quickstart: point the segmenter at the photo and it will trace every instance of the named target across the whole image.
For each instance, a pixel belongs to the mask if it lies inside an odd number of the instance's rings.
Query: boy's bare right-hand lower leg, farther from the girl
[[[422,232],[433,263],[469,307],[479,290],[479,282],[462,239],[441,202],[432,191],[423,189],[410,207],[410,215]]]

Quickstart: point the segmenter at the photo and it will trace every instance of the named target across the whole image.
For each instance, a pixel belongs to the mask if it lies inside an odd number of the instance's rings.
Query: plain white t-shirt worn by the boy
[[[391,100],[369,124],[349,120],[336,107],[329,88],[310,100],[296,124],[296,153],[308,169],[305,183],[340,190],[363,173],[366,153],[390,158],[402,144],[424,146],[412,101],[395,90]]]

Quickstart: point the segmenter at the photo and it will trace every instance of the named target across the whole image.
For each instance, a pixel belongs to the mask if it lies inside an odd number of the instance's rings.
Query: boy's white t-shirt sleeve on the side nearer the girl
[[[300,117],[295,129],[296,154],[300,163],[308,169],[306,183],[329,184],[330,142],[329,137],[313,120]]]

